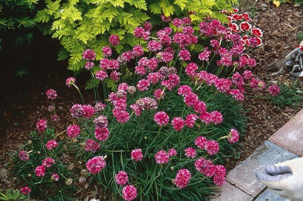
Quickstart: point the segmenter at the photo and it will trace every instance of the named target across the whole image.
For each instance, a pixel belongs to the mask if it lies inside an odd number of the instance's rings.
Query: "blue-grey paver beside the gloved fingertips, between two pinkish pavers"
[[[227,175],[227,181],[235,184],[247,194],[256,197],[265,188],[265,185],[257,180],[255,172],[263,171],[265,166],[269,164],[290,160],[295,157],[297,155],[270,141],[265,141],[248,159],[230,171]]]

